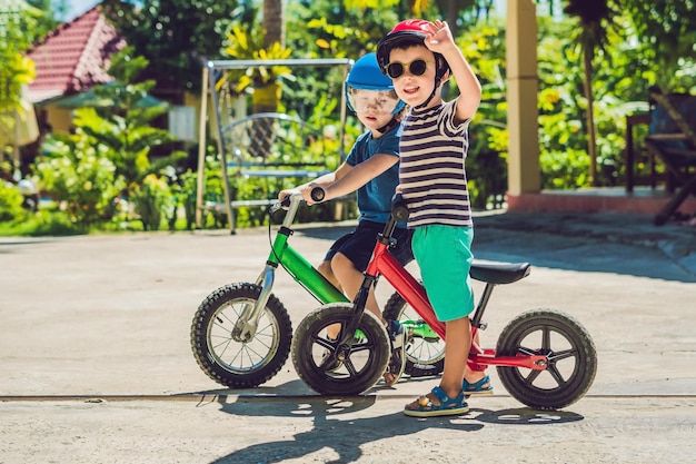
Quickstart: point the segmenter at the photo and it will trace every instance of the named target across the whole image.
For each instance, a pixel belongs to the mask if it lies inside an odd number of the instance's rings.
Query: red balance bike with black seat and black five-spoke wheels
[[[316,200],[324,194],[312,191]],[[382,376],[389,362],[389,337],[365,304],[370,286],[384,276],[418,315],[405,325],[429,325],[445,339],[445,325],[437,320],[422,285],[389,254],[397,221],[406,220],[408,209],[395,196],[391,217],[377,237],[372,259],[362,286],[352,303],[331,303],[308,314],[292,339],[292,363],[299,377],[322,395],[361,394]],[[528,263],[477,263],[470,276],[485,288],[471,316],[473,339],[486,328],[481,320],[496,286],[511,284],[529,275]],[[341,326],[337,340],[327,337],[327,327]],[[410,329],[409,329],[410,330]],[[503,386],[523,404],[537,409],[558,409],[578,401],[589,389],[597,371],[597,352],[588,332],[569,315],[553,309],[519,314],[500,333],[496,348],[471,345],[469,367],[477,371],[496,366]],[[339,365],[339,368],[335,366]]]

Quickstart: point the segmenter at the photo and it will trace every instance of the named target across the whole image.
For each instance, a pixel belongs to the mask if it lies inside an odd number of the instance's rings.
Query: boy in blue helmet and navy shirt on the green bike
[[[346,79],[346,96],[348,107],[367,130],[357,138],[346,161],[336,171],[294,189],[282,190],[278,198],[299,191],[311,205],[315,201],[310,194],[315,187],[324,189],[325,201],[357,190],[360,211],[357,227],[340,237],[318,266],[328,280],[352,299],[362,284],[362,273],[372,256],[377,235],[389,218],[391,197],[399,184],[400,113],[404,102],[394,91],[391,79],[379,69],[375,53],[365,55],[355,62]],[[406,265],[414,259],[411,231],[402,223],[397,225],[394,236],[397,246],[391,249],[391,254]],[[384,320],[374,288],[370,288],[367,308]],[[385,324],[392,344],[385,383],[394,385],[406,365],[406,332],[397,322],[385,320]],[[338,336],[338,328],[334,334],[330,332],[330,337]]]

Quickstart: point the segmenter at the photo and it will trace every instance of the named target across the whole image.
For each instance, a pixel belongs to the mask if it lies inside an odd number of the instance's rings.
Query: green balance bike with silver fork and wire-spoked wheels
[[[288,243],[300,204],[302,197],[296,194],[269,207],[271,219],[280,209],[285,209],[286,215],[256,282],[228,284],[213,290],[193,316],[190,334],[193,357],[200,368],[221,385],[257,387],[278,374],[288,359],[292,324],[286,307],[272,294],[279,266],[322,305],[349,303]],[[384,314],[407,327],[405,372],[412,377],[441,373],[445,344],[400,295],[391,295]]]

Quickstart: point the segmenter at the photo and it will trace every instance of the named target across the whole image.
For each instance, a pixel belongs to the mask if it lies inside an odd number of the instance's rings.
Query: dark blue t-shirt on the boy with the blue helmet
[[[399,156],[399,136],[401,125],[398,125],[379,138],[372,138],[371,131],[361,134],[352,146],[346,162],[352,167],[364,162],[375,155]],[[375,177],[358,189],[358,220],[370,220],[385,224],[391,213],[391,197],[399,185],[399,164]],[[406,227],[399,223],[397,227]]]

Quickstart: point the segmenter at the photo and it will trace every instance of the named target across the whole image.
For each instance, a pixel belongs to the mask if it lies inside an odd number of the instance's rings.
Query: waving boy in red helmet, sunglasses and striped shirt
[[[493,389],[484,373],[466,368],[471,345],[468,315],[474,310],[469,278],[474,224],[464,161],[481,87],[444,21],[399,22],[377,45],[377,60],[410,107],[399,144],[399,189],[409,209],[414,255],[428,298],[447,332],[439,386],[407,404],[404,413],[464,414],[469,409],[466,394]],[[440,91],[450,76],[459,96],[445,102]]]

